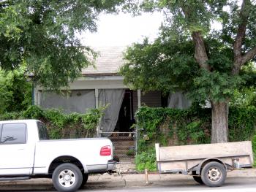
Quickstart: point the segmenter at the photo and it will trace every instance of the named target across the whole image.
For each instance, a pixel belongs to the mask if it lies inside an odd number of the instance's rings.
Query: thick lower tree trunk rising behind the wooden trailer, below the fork
[[[211,143],[227,142],[228,101],[211,101]]]

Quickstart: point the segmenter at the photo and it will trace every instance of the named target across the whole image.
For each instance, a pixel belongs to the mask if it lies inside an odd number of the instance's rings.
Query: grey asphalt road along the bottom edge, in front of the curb
[[[165,182],[159,182],[159,183],[152,183],[151,185],[144,185],[143,183],[139,184],[132,184],[129,185],[127,183],[126,186],[105,186],[104,183],[88,183],[89,185],[86,185],[84,189],[80,190],[80,192],[103,192],[103,191],[110,191],[110,192],[122,192],[122,191],[128,191],[128,192],[140,192],[140,191],[199,191],[199,192],[255,192],[256,191],[256,177],[234,177],[234,178],[227,178],[225,185],[222,185],[222,187],[219,188],[208,188],[205,185],[199,185],[195,183],[193,180],[175,180],[171,181],[170,183]],[[1,185],[0,185],[0,191]],[[4,191],[10,191],[10,192],[21,192],[23,191],[21,188],[16,188],[15,190],[8,190],[4,189]],[[26,191],[23,192],[39,192],[39,191],[48,191],[53,192],[52,189],[48,187],[48,190],[42,190],[37,189],[37,185],[31,186]]]

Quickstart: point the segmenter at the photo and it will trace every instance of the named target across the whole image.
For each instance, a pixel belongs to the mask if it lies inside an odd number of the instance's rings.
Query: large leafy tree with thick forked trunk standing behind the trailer
[[[162,10],[165,23],[154,42],[129,47],[125,82],[211,101],[211,142],[227,142],[230,96],[250,80],[243,67],[255,61],[255,1],[134,0],[127,7]]]

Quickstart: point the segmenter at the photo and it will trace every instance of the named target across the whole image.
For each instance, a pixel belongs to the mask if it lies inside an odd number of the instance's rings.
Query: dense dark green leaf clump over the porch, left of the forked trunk
[[[143,44],[134,44],[124,55],[127,59],[127,64],[121,68],[124,82],[145,91],[168,92],[182,88],[185,91],[192,83],[189,77],[197,71],[190,50],[191,42],[174,42],[171,39],[159,38],[153,44],[146,39]],[[186,77],[187,81],[182,77]]]

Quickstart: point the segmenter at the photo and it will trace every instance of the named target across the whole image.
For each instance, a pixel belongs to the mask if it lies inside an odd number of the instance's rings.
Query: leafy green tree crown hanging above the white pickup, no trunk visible
[[[95,55],[81,45],[81,31],[96,31],[100,12],[121,0],[0,0],[0,67],[27,66],[34,82],[58,89],[75,80]]]

